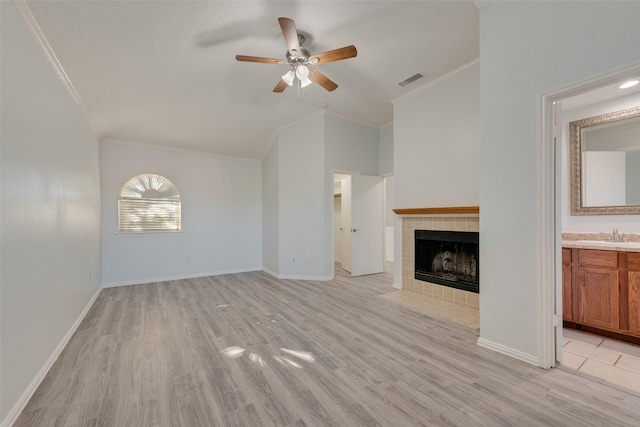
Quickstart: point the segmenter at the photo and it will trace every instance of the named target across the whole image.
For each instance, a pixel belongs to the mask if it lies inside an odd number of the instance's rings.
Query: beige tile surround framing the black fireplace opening
[[[400,212],[396,212],[400,213]],[[479,231],[477,214],[406,215],[402,217],[402,290],[416,292],[467,308],[478,309],[479,295],[414,278],[415,230]],[[482,289],[482,284],[480,284]]]

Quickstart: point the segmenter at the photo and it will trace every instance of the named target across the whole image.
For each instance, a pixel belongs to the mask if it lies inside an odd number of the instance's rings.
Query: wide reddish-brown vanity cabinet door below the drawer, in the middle
[[[618,270],[579,267],[578,323],[596,328],[619,328]]]

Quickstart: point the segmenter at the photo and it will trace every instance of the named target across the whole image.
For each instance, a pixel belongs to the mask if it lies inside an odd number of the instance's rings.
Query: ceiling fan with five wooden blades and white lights
[[[309,66],[353,58],[358,55],[356,47],[353,45],[345,46],[339,49],[311,55],[306,48],[302,47],[305,38],[296,30],[295,22],[289,18],[278,18],[278,22],[280,23],[280,29],[282,30],[284,41],[287,44],[286,59],[236,55],[236,60],[241,62],[290,65],[291,70],[282,76],[276,87],[273,89],[274,92],[284,92],[287,86],[293,86],[296,79],[300,82],[300,87],[306,87],[312,82],[316,82],[329,92],[335,90],[338,87],[335,82],[320,71],[314,68],[309,68]]]

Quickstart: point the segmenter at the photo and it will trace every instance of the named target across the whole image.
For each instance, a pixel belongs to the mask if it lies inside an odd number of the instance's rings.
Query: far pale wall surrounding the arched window
[[[262,268],[260,163],[105,140],[101,167],[103,286]],[[180,190],[181,233],[118,233],[120,190],[147,172]]]

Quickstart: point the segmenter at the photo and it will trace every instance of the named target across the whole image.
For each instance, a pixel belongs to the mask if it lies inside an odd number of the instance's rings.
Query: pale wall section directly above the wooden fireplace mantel
[[[397,208],[479,204],[480,65],[394,101]]]

